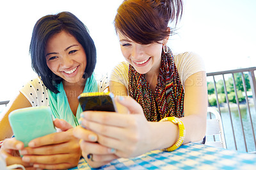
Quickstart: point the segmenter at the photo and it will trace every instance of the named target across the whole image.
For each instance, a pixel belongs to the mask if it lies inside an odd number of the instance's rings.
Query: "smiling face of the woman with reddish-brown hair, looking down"
[[[141,45],[122,35],[122,33],[117,32],[117,35],[124,58],[138,73],[159,73],[162,47],[165,40],[159,43]]]

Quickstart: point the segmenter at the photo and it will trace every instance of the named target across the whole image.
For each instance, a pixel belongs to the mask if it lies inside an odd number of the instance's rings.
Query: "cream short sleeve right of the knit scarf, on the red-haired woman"
[[[184,86],[186,79],[197,72],[205,71],[204,60],[193,52],[184,52],[174,56],[180,81]]]

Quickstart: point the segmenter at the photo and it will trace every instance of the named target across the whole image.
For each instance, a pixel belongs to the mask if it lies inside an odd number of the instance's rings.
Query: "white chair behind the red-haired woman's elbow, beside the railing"
[[[218,148],[227,148],[220,113],[212,107],[207,107],[205,144]],[[211,116],[210,116],[211,115]]]

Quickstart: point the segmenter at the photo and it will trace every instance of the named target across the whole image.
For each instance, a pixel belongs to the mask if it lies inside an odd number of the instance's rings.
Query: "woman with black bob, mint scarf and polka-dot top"
[[[79,141],[72,135],[82,109],[77,100],[83,92],[98,91],[93,76],[96,49],[88,29],[69,12],[46,15],[33,29],[29,48],[33,70],[38,78],[20,89],[1,118],[1,155],[6,164],[29,168],[67,169],[77,166],[81,157]],[[57,132],[34,139],[28,148],[12,137],[8,114],[24,107],[49,106]],[[61,120],[60,120],[61,119]],[[20,153],[22,158],[17,157]]]

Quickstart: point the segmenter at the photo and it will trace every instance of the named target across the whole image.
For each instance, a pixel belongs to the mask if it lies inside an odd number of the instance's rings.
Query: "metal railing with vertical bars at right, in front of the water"
[[[219,81],[223,81],[223,88],[224,88],[224,91],[225,91],[225,100],[226,100],[226,105],[225,107],[227,107],[226,109],[228,110],[228,114],[229,114],[229,118],[230,118],[230,124],[231,124],[231,127],[232,128],[232,138],[234,140],[234,145],[235,145],[235,148],[236,150],[239,150],[237,148],[237,141],[240,140],[243,140],[244,142],[244,146],[245,146],[245,150],[248,151],[248,143],[246,141],[246,139],[248,140],[248,134],[246,134],[245,130],[244,130],[244,124],[247,125],[248,127],[248,123],[250,124],[250,128],[252,130],[252,138],[253,140],[253,143],[254,143],[254,149],[251,150],[251,151],[256,151],[256,139],[255,139],[255,127],[253,127],[253,120],[252,120],[252,109],[255,109],[255,112],[256,112],[256,82],[255,82],[255,70],[256,70],[256,67],[252,67],[252,68],[242,68],[242,69],[236,69],[236,70],[227,70],[227,71],[223,71],[223,72],[212,72],[212,73],[207,73],[207,82],[209,82],[208,80],[209,79],[213,79],[213,83],[214,83],[214,93],[216,95],[216,104],[217,104],[217,108],[218,108],[218,111],[220,112],[221,114],[221,110],[223,110],[221,108],[221,104],[219,102],[219,93],[217,91],[217,86],[216,86],[216,77],[220,78]],[[243,82],[243,90],[244,90],[244,98],[245,98],[245,104],[246,105],[246,116],[248,118],[248,120],[250,120],[250,122],[244,122],[243,121],[243,118],[241,116],[241,107],[240,107],[240,103],[239,103],[239,97],[238,97],[238,94],[237,94],[237,85],[236,85],[236,79],[235,79],[235,73],[239,73],[239,75],[241,75],[241,78],[242,79],[242,82]],[[246,87],[246,81],[244,79],[244,75],[245,74],[248,74],[248,78],[250,80],[250,88],[251,88],[251,91],[252,91],[252,100],[253,102],[251,102],[251,106],[249,105],[249,100],[248,100],[248,89]],[[237,107],[237,111],[238,111],[238,115],[239,115],[239,127],[241,127],[241,130],[242,130],[242,134],[243,136],[240,136],[240,137],[236,137],[236,132],[234,131],[234,128],[237,128],[237,123],[236,125],[234,125],[234,120],[232,119],[232,109],[230,108],[230,101],[228,99],[228,90],[227,90],[227,76],[228,75],[231,75],[230,77],[228,77],[229,79],[233,79],[232,82],[233,82],[233,87],[234,87],[234,93],[235,93],[235,96],[236,96],[236,107]],[[212,82],[212,81],[211,81]],[[252,104],[253,103],[253,104]],[[253,108],[253,105],[254,105],[254,108]],[[253,115],[254,116],[254,115]],[[227,118],[227,117],[226,117]],[[223,116],[221,115],[221,120],[222,121],[225,121],[223,120]],[[256,122],[254,120],[254,122]],[[224,128],[224,132],[225,132],[225,128]],[[230,139],[228,139],[230,140]],[[227,139],[226,139],[227,141]],[[228,148],[228,146],[227,146]]]

